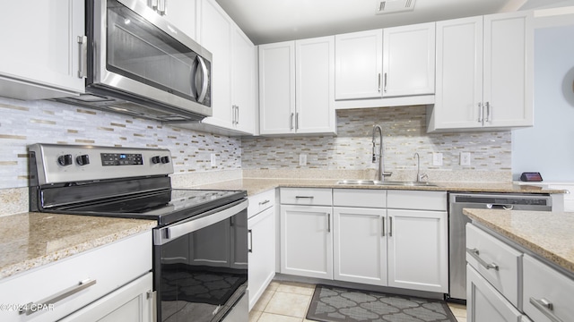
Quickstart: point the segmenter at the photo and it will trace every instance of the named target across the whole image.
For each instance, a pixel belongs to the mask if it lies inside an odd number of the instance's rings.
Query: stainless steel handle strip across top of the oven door
[[[199,217],[195,216],[185,221],[157,229],[153,232],[153,244],[163,245],[167,242],[171,242],[178,237],[187,235],[187,233],[196,232],[209,225],[219,223],[222,220],[235,216],[247,208],[248,200],[242,199],[229,205],[215,208]]]

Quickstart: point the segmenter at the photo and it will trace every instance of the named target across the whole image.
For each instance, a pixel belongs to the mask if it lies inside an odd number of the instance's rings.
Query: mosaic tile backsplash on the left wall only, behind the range
[[[169,148],[175,174],[241,167],[241,140],[51,101],[0,97],[0,189],[28,186],[33,143]],[[217,166],[211,166],[211,154]]]

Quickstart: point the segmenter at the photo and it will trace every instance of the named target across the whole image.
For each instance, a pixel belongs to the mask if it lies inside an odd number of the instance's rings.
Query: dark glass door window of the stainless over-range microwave
[[[191,76],[196,53],[117,1],[108,1],[107,23],[110,72],[196,100]]]

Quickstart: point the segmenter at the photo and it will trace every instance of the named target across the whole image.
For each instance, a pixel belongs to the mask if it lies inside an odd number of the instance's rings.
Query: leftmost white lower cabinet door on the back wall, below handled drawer
[[[333,279],[332,208],[281,206],[281,273]]]

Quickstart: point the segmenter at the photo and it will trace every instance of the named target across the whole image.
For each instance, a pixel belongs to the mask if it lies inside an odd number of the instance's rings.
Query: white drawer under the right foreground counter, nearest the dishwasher
[[[491,234],[466,224],[466,261],[518,309],[518,273],[522,253]],[[487,267],[488,266],[488,267]]]

